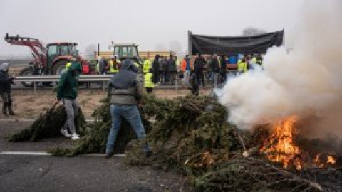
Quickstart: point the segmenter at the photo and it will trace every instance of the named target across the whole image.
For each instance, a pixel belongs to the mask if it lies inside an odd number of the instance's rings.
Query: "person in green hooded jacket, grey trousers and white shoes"
[[[58,82],[57,98],[55,104],[63,102],[66,110],[66,123],[61,127],[61,134],[65,137],[71,137],[73,140],[80,139],[76,133],[75,119],[78,113],[78,103],[76,101],[78,96],[78,77],[81,73],[81,63],[77,60],[72,60],[70,68],[65,73],[61,74]],[[69,133],[69,132],[70,133]]]

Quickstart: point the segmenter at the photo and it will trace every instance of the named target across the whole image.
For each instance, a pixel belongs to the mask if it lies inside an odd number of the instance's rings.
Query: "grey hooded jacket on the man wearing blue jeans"
[[[124,60],[119,73],[109,81],[110,103],[137,105],[142,96],[142,85],[137,80],[137,68],[132,60]]]

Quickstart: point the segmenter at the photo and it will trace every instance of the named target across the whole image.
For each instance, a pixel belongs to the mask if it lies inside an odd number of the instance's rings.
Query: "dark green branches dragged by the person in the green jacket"
[[[45,113],[41,114],[29,127],[21,130],[17,134],[11,135],[8,139],[10,142],[37,142],[41,139],[51,137],[61,137],[61,127],[66,122],[66,110],[63,105],[53,105]],[[86,119],[84,118],[81,108],[78,110],[76,117],[76,131],[83,134]]]

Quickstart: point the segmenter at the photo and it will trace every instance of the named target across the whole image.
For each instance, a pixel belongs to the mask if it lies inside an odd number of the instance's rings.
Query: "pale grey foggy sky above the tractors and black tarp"
[[[71,41],[84,52],[100,43],[136,43],[140,50],[179,41],[187,50],[187,31],[238,36],[247,27],[268,32],[292,30],[304,0],[0,0],[0,55],[28,54],[10,46],[6,33],[44,43]]]

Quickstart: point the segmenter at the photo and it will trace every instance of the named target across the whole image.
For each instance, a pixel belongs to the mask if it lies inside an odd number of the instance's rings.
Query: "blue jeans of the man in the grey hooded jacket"
[[[138,139],[145,139],[145,129],[142,126],[140,113],[137,108],[137,105],[112,104],[110,105],[110,116],[112,117],[112,127],[110,127],[107,147],[105,149],[106,154],[113,153],[113,147],[121,127],[121,122],[123,122],[123,118],[125,118],[128,121],[128,123],[130,123],[130,126],[133,127]],[[150,147],[148,146],[148,144],[145,144],[144,151],[150,151]]]

